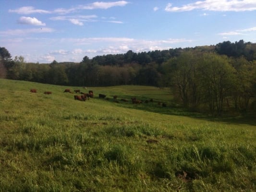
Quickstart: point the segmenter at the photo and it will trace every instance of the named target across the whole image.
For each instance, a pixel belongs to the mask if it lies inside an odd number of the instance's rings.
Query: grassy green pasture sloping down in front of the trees
[[[0,192],[256,191],[255,123],[195,118],[156,87],[0,79],[0,90]]]

